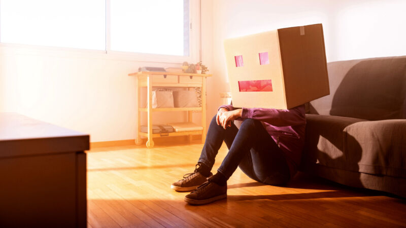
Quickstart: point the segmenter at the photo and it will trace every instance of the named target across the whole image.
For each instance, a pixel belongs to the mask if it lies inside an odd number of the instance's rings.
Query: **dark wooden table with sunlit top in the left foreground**
[[[0,227],[86,227],[89,135],[0,113]]]

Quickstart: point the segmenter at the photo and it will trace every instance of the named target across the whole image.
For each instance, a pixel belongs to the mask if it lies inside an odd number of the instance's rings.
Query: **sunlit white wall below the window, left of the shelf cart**
[[[127,74],[140,65],[162,64],[65,51],[22,52],[0,50],[0,111],[88,133],[93,142],[135,138],[136,80]],[[155,117],[162,122],[162,115]]]

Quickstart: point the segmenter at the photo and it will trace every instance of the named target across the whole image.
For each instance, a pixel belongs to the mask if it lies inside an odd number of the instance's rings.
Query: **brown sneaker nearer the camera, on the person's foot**
[[[210,178],[204,184],[185,196],[185,201],[193,205],[212,203],[227,198],[227,184],[224,186],[212,182]]]

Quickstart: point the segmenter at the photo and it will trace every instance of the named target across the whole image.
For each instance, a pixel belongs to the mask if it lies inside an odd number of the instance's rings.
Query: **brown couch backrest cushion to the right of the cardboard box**
[[[406,56],[327,64],[330,95],[309,113],[365,120],[406,119]]]

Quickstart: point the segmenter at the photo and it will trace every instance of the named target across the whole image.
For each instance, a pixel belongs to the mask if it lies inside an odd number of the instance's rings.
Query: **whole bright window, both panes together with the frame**
[[[190,17],[197,12],[196,3],[191,4],[190,0],[1,0],[0,43],[144,53],[133,56],[159,61],[170,55],[172,62],[187,61],[192,47],[198,46],[191,42]]]

